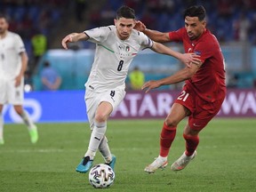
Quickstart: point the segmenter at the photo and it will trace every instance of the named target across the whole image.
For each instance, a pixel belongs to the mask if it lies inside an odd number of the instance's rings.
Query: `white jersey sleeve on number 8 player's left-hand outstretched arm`
[[[110,27],[92,28],[85,30],[84,33],[89,36],[88,41],[92,43],[100,43],[106,39],[108,32],[111,31]]]

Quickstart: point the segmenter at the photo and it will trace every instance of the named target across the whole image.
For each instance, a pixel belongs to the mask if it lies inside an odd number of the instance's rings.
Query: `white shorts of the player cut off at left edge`
[[[24,79],[15,87],[15,79],[6,80],[0,78],[0,104],[22,105],[24,100]]]

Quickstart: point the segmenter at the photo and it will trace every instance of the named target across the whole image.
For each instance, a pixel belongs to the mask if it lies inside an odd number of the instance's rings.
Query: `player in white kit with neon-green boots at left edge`
[[[0,145],[4,144],[4,104],[12,104],[25,124],[32,143],[38,140],[36,125],[22,107],[24,97],[24,72],[28,55],[18,34],[8,31],[6,16],[0,15]]]

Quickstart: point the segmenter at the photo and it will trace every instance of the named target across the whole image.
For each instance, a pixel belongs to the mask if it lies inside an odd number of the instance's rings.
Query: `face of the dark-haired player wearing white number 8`
[[[129,38],[132,33],[132,28],[135,26],[135,20],[120,18],[119,20],[115,19],[116,32],[117,36],[125,40]]]

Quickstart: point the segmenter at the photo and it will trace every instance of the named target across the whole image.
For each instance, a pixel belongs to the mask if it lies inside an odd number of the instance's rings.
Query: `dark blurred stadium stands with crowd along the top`
[[[116,9],[122,4],[132,7],[148,28],[163,32],[183,27],[183,10],[202,4],[208,16],[207,28],[220,43],[256,45],[256,0],[1,0],[0,12],[10,17],[9,29],[22,37],[30,59],[28,74],[33,74],[40,57],[48,49],[60,48],[64,35],[113,24]]]

